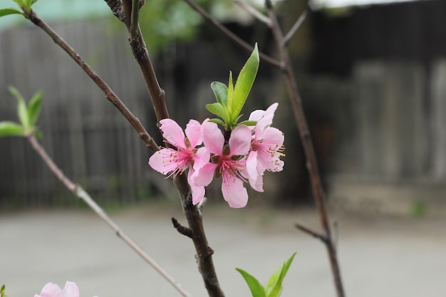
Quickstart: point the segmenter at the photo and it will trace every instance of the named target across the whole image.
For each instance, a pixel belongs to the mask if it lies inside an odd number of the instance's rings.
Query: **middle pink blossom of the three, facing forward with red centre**
[[[202,123],[204,147],[214,154],[212,162],[197,167],[192,175],[192,182],[199,186],[207,186],[214,174],[222,175],[222,194],[229,207],[245,207],[248,202],[247,189],[243,187],[244,178],[240,174],[245,167],[244,155],[251,147],[251,129],[239,125],[231,132],[229,145],[224,145],[224,136],[217,124],[205,120]],[[217,170],[217,171],[216,171]]]

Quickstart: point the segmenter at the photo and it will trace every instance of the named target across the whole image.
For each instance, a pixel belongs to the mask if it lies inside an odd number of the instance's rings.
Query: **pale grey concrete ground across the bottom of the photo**
[[[192,296],[207,296],[192,242],[172,228],[177,207],[145,205],[112,213],[122,229]],[[331,214],[346,296],[446,296],[446,219]],[[294,229],[318,229],[313,209],[204,209],[208,241],[226,296],[251,296],[242,268],[266,284],[297,251],[282,296],[336,296],[324,246]],[[88,210],[0,215],[0,285],[32,297],[48,281],[75,281],[81,297],[180,296]]]

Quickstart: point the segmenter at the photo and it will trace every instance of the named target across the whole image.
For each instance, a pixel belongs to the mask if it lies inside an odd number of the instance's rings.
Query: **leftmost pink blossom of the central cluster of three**
[[[157,172],[172,175],[182,174],[187,168],[187,181],[192,189],[192,203],[197,204],[204,197],[204,187],[192,183],[191,177],[194,173],[194,167],[209,161],[209,152],[203,148],[196,150],[197,145],[202,144],[201,125],[196,120],[190,120],[186,126],[186,137],[180,125],[175,120],[160,120],[160,130],[165,141],[170,145],[177,147],[162,148],[155,152],[149,159],[149,165]]]

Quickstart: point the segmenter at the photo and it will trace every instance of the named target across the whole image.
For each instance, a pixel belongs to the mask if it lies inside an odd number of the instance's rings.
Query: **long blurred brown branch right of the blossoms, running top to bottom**
[[[265,4],[269,14],[269,18],[272,21],[271,31],[274,35],[274,39],[276,40],[276,45],[279,51],[279,56],[282,65],[284,65],[282,73],[284,75],[289,96],[291,98],[291,108],[293,109],[294,118],[296,119],[296,124],[299,129],[299,135],[301,137],[302,146],[304,147],[304,152],[306,156],[306,167],[311,180],[311,189],[313,191],[313,197],[316,202],[316,206],[318,208],[319,219],[321,221],[323,231],[325,232],[323,236],[325,240],[323,240],[323,242],[326,244],[328,257],[330,259],[333,281],[336,286],[336,292],[338,294],[338,297],[343,297],[344,291],[341,281],[341,272],[339,269],[338,259],[336,256],[336,248],[331,238],[330,226],[328,225],[328,215],[326,212],[326,207],[324,202],[325,193],[323,192],[322,189],[321,175],[318,172],[316,153],[314,152],[310,130],[308,129],[308,124],[306,122],[304,108],[302,107],[301,97],[299,95],[299,90],[296,84],[296,78],[294,77],[289,55],[285,48],[284,36],[279,26],[279,21],[277,20],[277,16],[276,13],[274,12],[271,0],[266,0]]]

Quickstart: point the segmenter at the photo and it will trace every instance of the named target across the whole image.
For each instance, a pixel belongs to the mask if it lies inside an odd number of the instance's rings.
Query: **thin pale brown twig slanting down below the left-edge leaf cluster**
[[[190,293],[187,293],[184,288],[178,283],[175,278],[172,278],[165,269],[163,269],[160,264],[157,264],[157,262],[152,259],[149,255],[143,251],[138,244],[135,243],[125,232],[120,229],[120,226],[116,224],[113,219],[108,217],[108,214],[90,197],[90,195],[85,192],[85,190],[77,185],[74,184],[71,179],[66,177],[65,174],[63,174],[62,170],[53,162],[51,157],[48,156],[46,153],[46,150],[38,143],[36,140],[36,137],[34,135],[29,134],[27,135],[28,141],[31,143],[31,146],[34,150],[40,155],[43,162],[48,166],[48,168],[53,172],[53,174],[56,174],[56,177],[65,185],[67,189],[70,190],[70,192],[73,192],[73,194],[76,194],[77,197],[83,199],[83,201],[88,204],[88,206],[93,209],[93,211],[98,214],[98,216],[103,219],[103,221],[110,226],[113,231],[115,231],[116,236],[118,236],[120,239],[122,239],[128,246],[130,246],[133,251],[135,251],[144,261],[146,261],[150,266],[152,266],[157,273],[160,273],[162,277],[164,277],[174,288],[177,289],[177,291],[185,297],[190,297]]]

